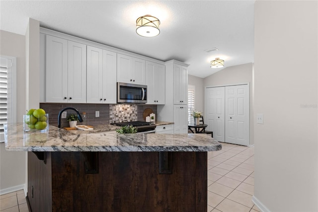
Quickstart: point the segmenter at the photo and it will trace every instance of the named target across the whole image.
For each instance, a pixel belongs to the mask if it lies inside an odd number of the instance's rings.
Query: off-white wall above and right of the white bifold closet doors
[[[238,66],[231,66],[203,79],[204,90],[206,87],[237,85],[249,83],[249,144],[254,144],[253,126],[253,64],[247,63]],[[204,103],[203,103],[204,104]]]

